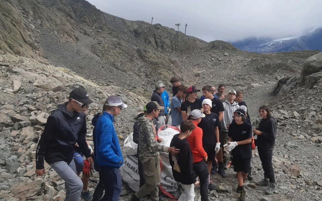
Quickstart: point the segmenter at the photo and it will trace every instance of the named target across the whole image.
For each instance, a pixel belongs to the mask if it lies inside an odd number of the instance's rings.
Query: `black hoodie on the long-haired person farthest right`
[[[257,135],[257,147],[264,150],[273,150],[276,138],[276,122],[273,116],[261,119],[259,123],[261,135]]]

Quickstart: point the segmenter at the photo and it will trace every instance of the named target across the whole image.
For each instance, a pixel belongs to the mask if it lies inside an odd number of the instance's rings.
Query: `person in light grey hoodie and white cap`
[[[222,144],[226,144],[228,141],[228,129],[229,125],[232,123],[233,119],[233,113],[235,110],[237,110],[240,106],[236,101],[234,101],[236,98],[236,91],[235,90],[230,90],[228,92],[228,99],[223,102],[223,107],[225,109],[223,113],[223,121],[221,121],[221,126],[222,126],[222,133],[219,136],[219,141]],[[223,157],[221,157],[223,156]],[[229,162],[229,156],[226,154],[226,152],[219,151],[218,154],[218,161],[219,161],[219,167],[218,167],[218,172],[222,171],[222,169],[227,169],[227,165]],[[221,166],[220,161],[223,161],[223,165]]]

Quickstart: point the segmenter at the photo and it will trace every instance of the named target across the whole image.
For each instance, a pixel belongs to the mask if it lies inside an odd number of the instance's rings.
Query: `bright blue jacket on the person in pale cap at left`
[[[123,157],[111,114],[104,111],[99,117],[95,126],[95,135],[98,164],[100,166],[121,167]]]

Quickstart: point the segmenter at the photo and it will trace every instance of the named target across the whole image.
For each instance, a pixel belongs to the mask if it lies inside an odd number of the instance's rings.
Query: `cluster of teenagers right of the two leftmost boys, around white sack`
[[[276,122],[269,106],[260,106],[262,119],[257,128],[252,129],[242,92],[230,90],[226,95],[223,84],[217,90],[209,85],[198,90],[195,86],[185,87],[176,77],[170,82],[173,85],[171,103],[165,85],[156,83],[151,102],[144,106],[144,113],[138,115],[134,124],[140,189],[130,200],[138,201],[147,195],[151,200],[159,200],[159,152],[163,151],[169,152],[173,176],[183,188],[185,200],[194,200],[195,186],[200,186],[201,200],[208,200],[208,190],[219,187],[210,175],[218,172],[224,178],[225,169],[232,165],[238,181],[239,200],[244,201],[243,183],[245,179],[252,179],[251,156],[255,144],[264,170],[264,179],[257,185],[268,186],[265,193],[272,194],[276,188],[272,167]],[[201,91],[202,96],[198,98]],[[180,133],[173,136],[170,147],[165,147],[159,144],[162,139],[157,131],[168,123],[170,114],[171,125],[180,126]]]

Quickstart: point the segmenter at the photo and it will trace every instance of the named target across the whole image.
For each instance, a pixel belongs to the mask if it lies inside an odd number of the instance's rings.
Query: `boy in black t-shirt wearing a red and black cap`
[[[182,103],[181,105],[181,114],[183,121],[190,119],[190,112],[198,109],[200,110],[202,108],[201,101],[196,99],[197,98],[197,92],[198,90],[195,86],[190,86],[187,89],[188,92],[188,99]]]

